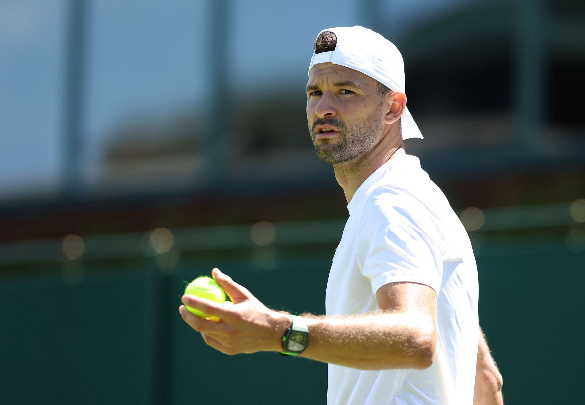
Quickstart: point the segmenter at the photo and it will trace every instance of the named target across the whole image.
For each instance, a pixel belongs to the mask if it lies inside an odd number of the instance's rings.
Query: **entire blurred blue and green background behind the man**
[[[324,313],[347,208],[304,86],[351,25],[402,52],[505,401],[577,402],[584,2],[0,0],[2,403],[325,403],[326,365],[222,355],[177,308],[217,266]]]

